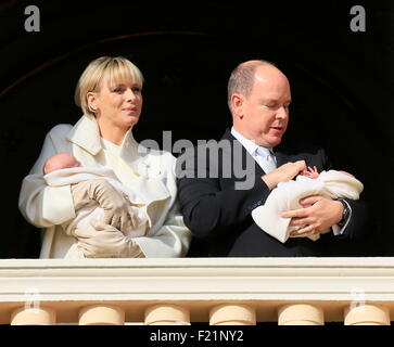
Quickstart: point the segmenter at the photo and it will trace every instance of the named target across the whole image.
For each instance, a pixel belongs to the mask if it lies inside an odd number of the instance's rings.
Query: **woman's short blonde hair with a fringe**
[[[101,56],[92,61],[79,77],[75,89],[74,100],[82,108],[85,115],[94,116],[94,111],[89,107],[88,92],[99,92],[102,79],[107,77],[110,86],[116,83],[143,85],[140,69],[123,56]]]

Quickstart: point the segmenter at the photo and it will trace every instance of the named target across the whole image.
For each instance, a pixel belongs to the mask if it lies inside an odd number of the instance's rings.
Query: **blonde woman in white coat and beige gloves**
[[[20,209],[27,221],[43,228],[40,258],[63,258],[78,243],[86,258],[179,257],[186,255],[190,231],[178,210],[175,157],[137,143],[132,127],[142,110],[143,77],[125,57],[92,61],[79,78],[75,101],[84,112],[76,125],[58,125],[46,137],[41,153],[22,183]],[[147,235],[127,237],[130,224],[125,197],[105,180],[49,187],[47,159],[71,153],[82,166],[111,168],[122,183],[143,197],[151,219]],[[91,202],[104,214],[90,230],[67,235],[60,227]]]

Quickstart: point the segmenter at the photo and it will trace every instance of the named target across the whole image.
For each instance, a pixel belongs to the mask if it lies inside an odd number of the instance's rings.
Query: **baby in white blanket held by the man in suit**
[[[321,195],[328,198],[358,200],[364,185],[353,175],[345,171],[321,171],[308,168],[295,180],[280,182],[268,195],[264,205],[252,211],[255,223],[266,233],[284,243],[289,237],[309,237],[316,241],[319,234],[307,233],[292,236],[291,232],[302,227],[289,226],[290,218],[280,217],[281,213],[301,208],[300,200],[308,195]],[[329,230],[322,233],[329,232]]]

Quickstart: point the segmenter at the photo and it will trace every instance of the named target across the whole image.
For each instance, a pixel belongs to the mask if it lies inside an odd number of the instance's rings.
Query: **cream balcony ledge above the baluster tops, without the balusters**
[[[394,314],[394,258],[180,258],[1,259],[0,323],[36,301],[77,322],[92,304],[122,307],[127,322],[143,322],[147,308],[166,303],[207,322],[224,303],[255,309],[257,322],[278,321],[284,304],[317,304],[326,322],[343,322],[344,309],[366,301]]]

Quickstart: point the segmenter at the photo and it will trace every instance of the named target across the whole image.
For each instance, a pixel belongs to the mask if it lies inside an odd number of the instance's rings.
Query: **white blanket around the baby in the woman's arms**
[[[123,184],[115,172],[109,168],[97,167],[72,167],[52,171],[43,176],[48,185],[61,187],[67,184],[78,183],[85,180],[91,179],[105,179],[112,187],[123,194],[128,205],[128,213],[131,220],[130,230],[122,230],[122,232],[129,237],[138,237],[147,234],[149,228],[151,228],[151,220],[147,213],[147,204],[143,200],[136,195],[136,193]],[[87,206],[78,209],[77,216],[62,224],[63,229],[68,235],[74,235],[75,229],[93,229],[91,221],[94,219],[100,221],[103,217],[104,209],[96,202],[91,202]],[[78,248],[78,247],[76,247]],[[76,249],[71,249],[74,253]],[[77,257],[80,258],[80,252],[77,252]],[[74,257],[72,254],[66,256]]]

